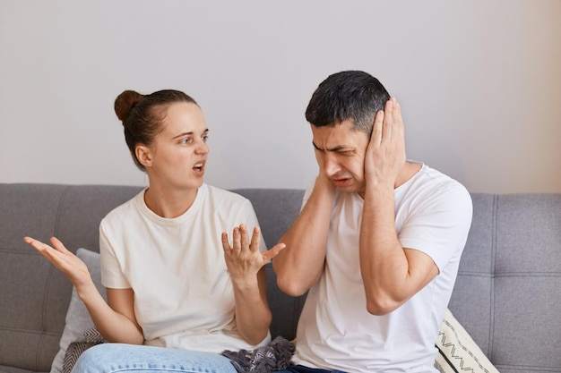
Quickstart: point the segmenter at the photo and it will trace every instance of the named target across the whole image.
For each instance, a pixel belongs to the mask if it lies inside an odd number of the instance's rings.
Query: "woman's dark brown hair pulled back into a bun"
[[[125,128],[125,141],[134,164],[146,171],[136,158],[135,148],[142,144],[150,146],[162,130],[169,105],[187,102],[197,105],[192,97],[175,89],[163,89],[150,95],[141,95],[134,90],[125,90],[115,99],[115,113]],[[198,106],[198,105],[197,105]]]

